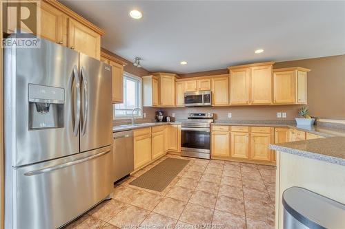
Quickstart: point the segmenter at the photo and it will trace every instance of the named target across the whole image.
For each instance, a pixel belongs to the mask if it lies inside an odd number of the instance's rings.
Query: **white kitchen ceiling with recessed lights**
[[[151,72],[345,54],[345,1],[61,1],[106,30],[101,45]],[[128,17],[132,9],[143,17]],[[262,54],[254,51],[262,48]],[[179,65],[188,61],[188,65]]]

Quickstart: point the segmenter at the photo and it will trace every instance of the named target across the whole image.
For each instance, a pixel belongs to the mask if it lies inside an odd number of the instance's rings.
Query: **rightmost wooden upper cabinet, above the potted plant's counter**
[[[303,67],[273,69],[273,103],[306,104],[309,71]]]

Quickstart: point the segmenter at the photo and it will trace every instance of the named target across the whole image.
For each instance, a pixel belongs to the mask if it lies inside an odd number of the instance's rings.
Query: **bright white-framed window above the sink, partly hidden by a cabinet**
[[[141,78],[124,72],[124,103],[114,105],[114,119],[132,117],[132,109],[141,107]],[[141,111],[135,111],[135,118],[142,118]]]

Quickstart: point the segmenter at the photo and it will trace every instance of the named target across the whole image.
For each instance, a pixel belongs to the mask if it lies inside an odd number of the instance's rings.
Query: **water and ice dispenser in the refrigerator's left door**
[[[29,84],[29,129],[64,126],[65,89]]]

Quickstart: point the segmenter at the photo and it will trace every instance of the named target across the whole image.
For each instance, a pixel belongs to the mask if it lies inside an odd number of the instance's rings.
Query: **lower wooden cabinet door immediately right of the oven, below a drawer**
[[[211,133],[211,155],[218,157],[230,156],[230,137],[228,131],[213,131]]]

